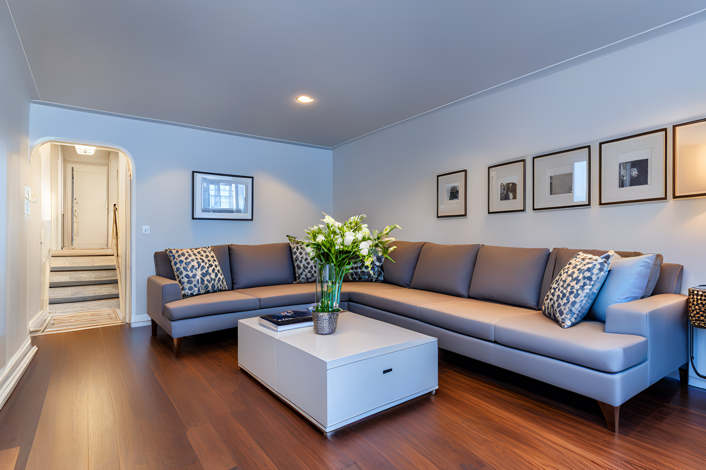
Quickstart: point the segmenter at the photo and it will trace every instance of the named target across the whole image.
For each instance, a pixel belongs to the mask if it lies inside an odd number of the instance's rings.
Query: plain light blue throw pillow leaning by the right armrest
[[[608,277],[588,312],[589,318],[605,323],[609,305],[645,297],[647,281],[656,259],[657,254],[614,259]]]

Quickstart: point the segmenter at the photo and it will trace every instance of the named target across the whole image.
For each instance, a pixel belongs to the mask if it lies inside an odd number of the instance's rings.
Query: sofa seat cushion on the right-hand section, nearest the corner
[[[435,302],[450,302],[458,297],[416,289],[395,289],[350,292],[349,302],[389,311],[393,314],[419,320],[419,307]]]

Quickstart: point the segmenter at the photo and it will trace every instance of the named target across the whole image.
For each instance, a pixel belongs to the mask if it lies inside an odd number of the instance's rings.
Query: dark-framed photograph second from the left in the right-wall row
[[[488,214],[525,211],[525,160],[488,167]]]

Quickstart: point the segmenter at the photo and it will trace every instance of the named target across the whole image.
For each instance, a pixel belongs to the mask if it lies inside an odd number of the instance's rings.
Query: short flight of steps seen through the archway
[[[49,312],[55,315],[120,308],[112,249],[52,251]]]

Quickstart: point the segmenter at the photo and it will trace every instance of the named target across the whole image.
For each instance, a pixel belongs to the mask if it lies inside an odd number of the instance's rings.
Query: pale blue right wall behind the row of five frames
[[[365,213],[374,228],[398,223],[402,240],[659,252],[685,266],[686,292],[706,283],[706,199],[598,206],[597,144],[706,118],[705,57],[706,23],[698,23],[335,147],[335,216]],[[533,212],[530,157],[585,144],[592,144],[592,207]],[[487,167],[520,158],[528,159],[530,210],[487,214]],[[462,168],[469,216],[437,220],[436,175]]]

